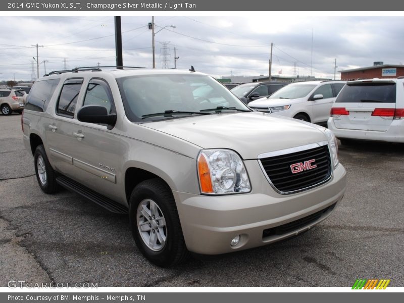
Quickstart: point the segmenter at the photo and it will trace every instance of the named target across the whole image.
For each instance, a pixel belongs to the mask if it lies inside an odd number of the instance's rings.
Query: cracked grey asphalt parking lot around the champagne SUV
[[[140,254],[128,218],[63,190],[44,194],[21,116],[0,116],[0,286],[404,286],[404,145],[340,146],[347,191],[334,213],[295,238],[161,269]]]

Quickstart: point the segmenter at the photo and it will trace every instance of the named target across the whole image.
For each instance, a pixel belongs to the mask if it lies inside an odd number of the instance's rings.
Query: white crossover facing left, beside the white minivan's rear
[[[307,122],[327,124],[331,106],[345,81],[307,81],[289,84],[267,98],[248,104],[251,109]]]

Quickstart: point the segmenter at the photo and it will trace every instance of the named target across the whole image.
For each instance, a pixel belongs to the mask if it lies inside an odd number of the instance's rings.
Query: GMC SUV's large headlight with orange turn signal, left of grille
[[[201,150],[198,177],[202,193],[236,193],[251,189],[243,162],[234,151],[228,149]]]

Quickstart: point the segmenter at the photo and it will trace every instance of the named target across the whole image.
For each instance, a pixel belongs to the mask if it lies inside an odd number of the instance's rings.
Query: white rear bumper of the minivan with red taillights
[[[404,120],[393,120],[386,131],[344,129],[335,126],[332,117],[328,119],[328,129],[331,130],[337,138],[357,139],[371,141],[385,141],[404,143]]]

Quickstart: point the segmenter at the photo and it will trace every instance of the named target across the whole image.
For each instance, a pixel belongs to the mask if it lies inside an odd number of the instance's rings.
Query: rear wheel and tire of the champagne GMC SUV
[[[42,191],[45,193],[57,192],[56,173],[47,159],[43,145],[38,145],[35,149],[34,165],[36,180]]]

